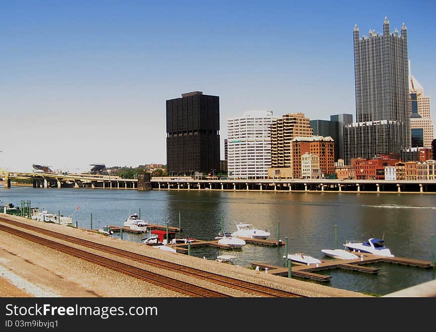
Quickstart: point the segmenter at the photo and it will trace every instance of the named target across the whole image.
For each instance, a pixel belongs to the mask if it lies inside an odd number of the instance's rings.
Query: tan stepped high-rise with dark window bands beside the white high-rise
[[[304,113],[285,114],[271,124],[271,166],[292,167],[292,139],[311,137],[313,129]]]

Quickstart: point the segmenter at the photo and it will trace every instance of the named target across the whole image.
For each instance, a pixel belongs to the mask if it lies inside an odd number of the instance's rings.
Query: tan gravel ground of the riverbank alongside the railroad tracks
[[[256,271],[242,266],[232,266],[212,260],[187,256],[185,254],[167,253],[140,243],[109,238],[102,234],[85,229],[75,229],[51,223],[42,223],[4,214],[0,215],[7,216],[7,218],[11,220],[24,220],[26,223],[32,224],[36,227],[42,227],[63,234],[95,241],[97,243],[140,253],[149,257],[155,257],[168,262],[195,267],[241,280],[260,283],[277,289],[296,292],[302,296],[369,297],[368,295],[357,292],[275,276],[265,273],[264,271]],[[147,283],[143,280],[80,260],[76,257],[29,242],[6,232],[0,231],[0,233],[0,266],[11,271],[13,275],[16,276],[16,279],[21,278],[27,281],[28,286],[27,288],[24,288],[24,291],[30,294],[30,296],[44,297],[44,295],[41,294],[50,294],[49,296],[52,297],[183,297],[180,293],[156,287],[152,283]],[[132,262],[129,262],[129,264],[132,264]],[[137,265],[138,267],[146,268],[147,270],[156,273],[163,273],[177,278],[178,280],[188,278],[182,274],[165,272],[157,267],[144,266],[140,263],[137,263]],[[3,275],[3,277],[5,276]],[[8,277],[6,276],[6,278]],[[9,282],[12,280],[13,277],[12,279],[9,277]],[[198,285],[204,285],[205,283],[201,280],[190,279],[189,281],[194,281],[198,283]],[[37,286],[38,288],[35,288],[34,286]],[[34,290],[32,291],[32,289]],[[231,289],[222,289],[221,287],[218,287],[217,291],[227,292],[228,295],[232,297],[253,296],[245,293],[241,294],[239,291],[232,291]],[[17,294],[20,296],[19,293]],[[6,296],[5,294],[1,295]]]

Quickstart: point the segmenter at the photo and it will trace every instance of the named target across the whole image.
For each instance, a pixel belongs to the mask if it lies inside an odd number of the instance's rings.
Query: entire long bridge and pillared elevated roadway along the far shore
[[[141,175],[140,175],[141,176]],[[153,190],[210,190],[257,192],[351,192],[436,194],[436,180],[331,180],[331,179],[195,179],[192,177],[153,177],[149,186],[138,179],[91,174],[20,173],[0,168],[5,187],[11,179],[32,179],[34,188],[102,188]],[[0,182],[1,184],[1,182]]]

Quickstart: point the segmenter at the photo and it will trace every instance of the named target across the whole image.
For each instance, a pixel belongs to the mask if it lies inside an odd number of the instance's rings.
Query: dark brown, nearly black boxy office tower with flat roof
[[[217,174],[219,159],[219,97],[195,91],[167,100],[168,175]]]

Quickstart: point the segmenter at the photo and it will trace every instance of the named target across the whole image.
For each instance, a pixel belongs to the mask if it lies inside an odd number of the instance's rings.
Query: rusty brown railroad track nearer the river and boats
[[[276,288],[272,288],[272,287],[268,287],[268,286],[264,286],[264,285],[259,285],[259,284],[253,283],[253,282],[240,280],[240,279],[236,279],[236,278],[232,278],[232,277],[228,277],[228,276],[223,276],[223,275],[220,275],[217,273],[204,271],[204,270],[201,270],[198,268],[193,268],[193,267],[188,267],[188,266],[183,266],[180,264],[167,262],[164,260],[160,260],[160,259],[145,256],[145,255],[133,253],[130,251],[110,247],[110,246],[103,245],[100,243],[95,243],[92,241],[83,240],[83,239],[79,239],[79,238],[76,238],[73,236],[50,231],[50,230],[47,230],[44,228],[35,227],[35,226],[29,225],[26,223],[12,221],[12,220],[5,219],[2,217],[0,217],[0,221],[17,226],[17,227],[28,229],[28,230],[31,230],[34,232],[39,232],[41,234],[45,234],[45,235],[48,235],[48,236],[51,236],[51,237],[54,237],[54,238],[57,238],[60,240],[75,243],[77,245],[81,245],[81,246],[84,246],[87,248],[91,248],[91,249],[102,251],[102,252],[105,252],[108,254],[116,255],[118,257],[133,260],[133,261],[136,261],[136,262],[139,262],[142,264],[147,264],[149,266],[159,267],[159,268],[163,268],[165,270],[170,270],[173,272],[182,273],[184,275],[199,278],[202,280],[207,280],[207,281],[215,283],[215,284],[219,284],[219,285],[226,286],[226,287],[236,289],[239,291],[243,291],[243,292],[248,292],[250,294],[260,295],[263,297],[305,297],[305,296],[297,294],[297,293],[288,292],[288,291],[284,291],[284,290],[280,290],[280,289],[276,289]]]

